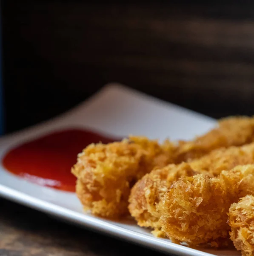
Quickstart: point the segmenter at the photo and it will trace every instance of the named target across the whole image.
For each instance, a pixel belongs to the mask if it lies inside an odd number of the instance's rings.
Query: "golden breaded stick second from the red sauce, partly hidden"
[[[171,186],[172,181],[183,176],[209,172],[217,176],[222,170],[238,165],[254,164],[254,143],[242,147],[222,148],[192,162],[171,164],[163,169],[153,170],[139,180],[131,189],[129,212],[141,227],[154,228],[156,236],[164,236],[158,224],[160,213],[156,204]]]

